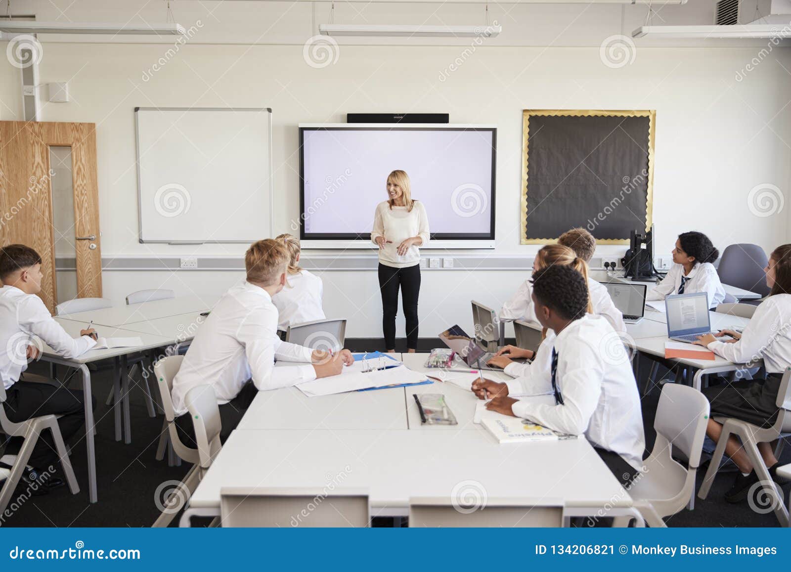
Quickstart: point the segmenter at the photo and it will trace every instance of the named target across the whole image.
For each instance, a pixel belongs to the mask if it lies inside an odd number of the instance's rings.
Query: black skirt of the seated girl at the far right
[[[782,373],[766,380],[737,381],[703,390],[711,403],[711,417],[732,417],[759,427],[771,427],[778,419],[778,391]]]

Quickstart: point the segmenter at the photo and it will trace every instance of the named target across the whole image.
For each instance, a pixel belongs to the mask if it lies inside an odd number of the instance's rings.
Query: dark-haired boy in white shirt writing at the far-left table
[[[24,244],[9,244],[0,249],[0,376],[6,388],[3,407],[11,422],[25,422],[41,415],[60,415],[58,425],[66,443],[85,423],[85,396],[76,389],[55,387],[51,384],[24,381],[22,373],[28,363],[40,356],[40,345],[34,336],[43,339],[64,358],[77,358],[96,345],[93,328],[80,331],[79,338],[72,338],[56,322],[44,301],[36,296],[41,291],[41,256]],[[96,400],[93,400],[96,407]],[[7,454],[15,454],[22,438],[9,440]],[[58,453],[51,434],[46,431],[27,464],[32,471],[25,472],[23,480],[32,482],[36,475],[55,464]],[[47,487],[61,486],[62,479],[49,479]]]

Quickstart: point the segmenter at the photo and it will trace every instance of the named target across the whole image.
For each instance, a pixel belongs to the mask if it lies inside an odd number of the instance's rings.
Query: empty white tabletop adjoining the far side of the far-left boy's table
[[[167,300],[155,300],[142,302],[141,304],[119,305],[112,308],[100,310],[90,310],[75,314],[63,314],[58,316],[64,320],[74,320],[81,322],[83,327],[93,320],[97,326],[119,326],[127,327],[129,324],[139,324],[149,320],[157,320],[165,316],[177,316],[179,314],[206,312],[210,310],[216,300],[205,300],[197,296],[184,296],[168,298]]]

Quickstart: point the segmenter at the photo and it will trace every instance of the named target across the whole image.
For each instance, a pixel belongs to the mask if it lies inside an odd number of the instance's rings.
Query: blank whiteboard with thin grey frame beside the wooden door
[[[271,236],[270,108],[135,108],[140,242]]]

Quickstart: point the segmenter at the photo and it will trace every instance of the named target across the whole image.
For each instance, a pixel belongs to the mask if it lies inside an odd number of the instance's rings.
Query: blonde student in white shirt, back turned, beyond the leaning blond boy
[[[324,320],[326,316],[321,307],[324,285],[321,278],[299,266],[299,239],[281,234],[274,240],[283,241],[290,256],[286,286],[272,297],[280,314],[278,330],[286,331],[291,324]]]

